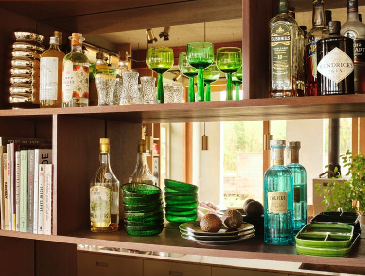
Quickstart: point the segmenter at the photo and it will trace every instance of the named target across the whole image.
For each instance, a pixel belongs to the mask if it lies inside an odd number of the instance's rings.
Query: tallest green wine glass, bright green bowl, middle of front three
[[[210,42],[190,42],[186,46],[188,63],[198,69],[197,100],[204,101],[203,69],[214,61],[214,48]]]

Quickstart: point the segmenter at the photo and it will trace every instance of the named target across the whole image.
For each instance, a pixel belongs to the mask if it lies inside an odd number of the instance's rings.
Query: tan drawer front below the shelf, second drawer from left
[[[146,259],[143,261],[143,276],[210,276],[210,269],[208,265]]]

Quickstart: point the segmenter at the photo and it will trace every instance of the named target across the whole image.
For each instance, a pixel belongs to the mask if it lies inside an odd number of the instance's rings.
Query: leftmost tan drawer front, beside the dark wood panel
[[[143,260],[107,254],[78,252],[78,276],[142,276]]]

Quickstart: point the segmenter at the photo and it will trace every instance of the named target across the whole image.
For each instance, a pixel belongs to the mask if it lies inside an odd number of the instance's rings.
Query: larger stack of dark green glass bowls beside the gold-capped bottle
[[[126,232],[133,236],[160,234],[164,229],[162,190],[146,183],[127,183],[121,190]]]

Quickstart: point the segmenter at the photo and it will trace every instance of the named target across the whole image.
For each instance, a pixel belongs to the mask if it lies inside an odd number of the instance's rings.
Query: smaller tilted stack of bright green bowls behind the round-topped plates
[[[165,218],[169,222],[190,222],[198,218],[198,186],[165,179]]]

